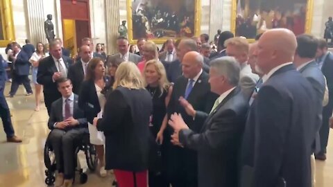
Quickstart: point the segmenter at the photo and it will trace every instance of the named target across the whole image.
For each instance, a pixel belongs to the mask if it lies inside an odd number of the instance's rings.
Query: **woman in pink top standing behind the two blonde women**
[[[144,43],[144,46],[142,46],[142,56],[143,60],[142,62],[139,62],[137,64],[137,67],[139,70],[143,73],[144,72],[144,66],[146,65],[146,62],[149,60],[158,60],[158,49],[154,42],[147,41]]]

